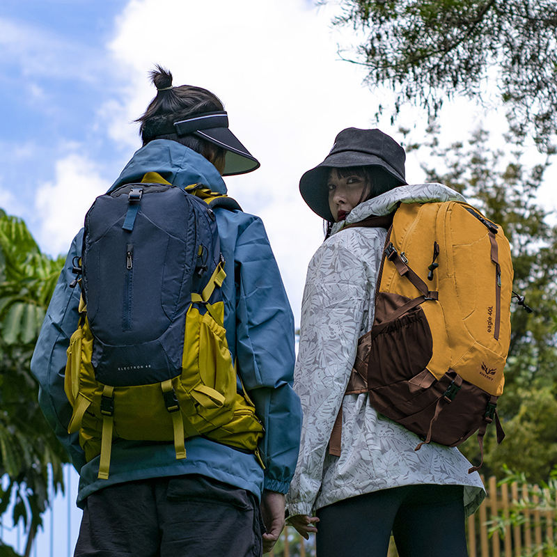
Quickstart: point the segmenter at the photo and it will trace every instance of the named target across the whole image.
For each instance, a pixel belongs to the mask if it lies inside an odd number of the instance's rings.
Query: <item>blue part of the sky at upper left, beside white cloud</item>
[[[41,237],[38,188],[69,152],[86,150],[116,171],[114,146],[97,133],[99,107],[118,88],[107,42],[124,1],[3,0],[0,3],[0,205]]]

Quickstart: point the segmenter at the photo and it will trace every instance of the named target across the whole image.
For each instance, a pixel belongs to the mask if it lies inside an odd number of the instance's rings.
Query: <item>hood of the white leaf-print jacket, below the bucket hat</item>
[[[354,207],[345,221],[334,223],[331,233],[338,232],[345,224],[362,221],[371,215],[381,217],[389,214],[396,209],[398,203],[434,203],[437,201],[465,202],[466,199],[458,191],[437,182],[395,187]]]

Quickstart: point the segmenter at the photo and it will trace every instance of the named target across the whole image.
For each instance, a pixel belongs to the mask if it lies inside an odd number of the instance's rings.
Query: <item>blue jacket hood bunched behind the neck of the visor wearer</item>
[[[159,173],[182,189],[201,183],[212,191],[226,194],[226,184],[217,168],[203,155],[171,139],[155,139],[137,150],[109,192],[125,184],[141,182],[147,172]]]

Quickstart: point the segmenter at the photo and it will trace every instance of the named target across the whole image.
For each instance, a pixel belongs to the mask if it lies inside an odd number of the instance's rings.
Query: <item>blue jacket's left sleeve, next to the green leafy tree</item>
[[[64,393],[64,375],[66,350],[79,321],[77,308],[81,291],[79,286],[70,288],[70,283],[75,278],[72,260],[81,254],[82,239],[83,230],[72,242],[31,359],[31,372],[40,386],[39,404],[42,412],[77,471],[85,464],[85,455],[79,446],[77,433],[68,434],[72,407]]]

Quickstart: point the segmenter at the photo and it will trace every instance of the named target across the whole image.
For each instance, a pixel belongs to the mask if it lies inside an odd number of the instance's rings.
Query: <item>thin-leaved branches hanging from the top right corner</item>
[[[337,25],[365,40],[350,55],[367,84],[389,86],[437,115],[444,99],[481,100],[496,85],[509,122],[549,149],[557,129],[554,0],[341,0]],[[379,106],[379,113],[384,107]]]

